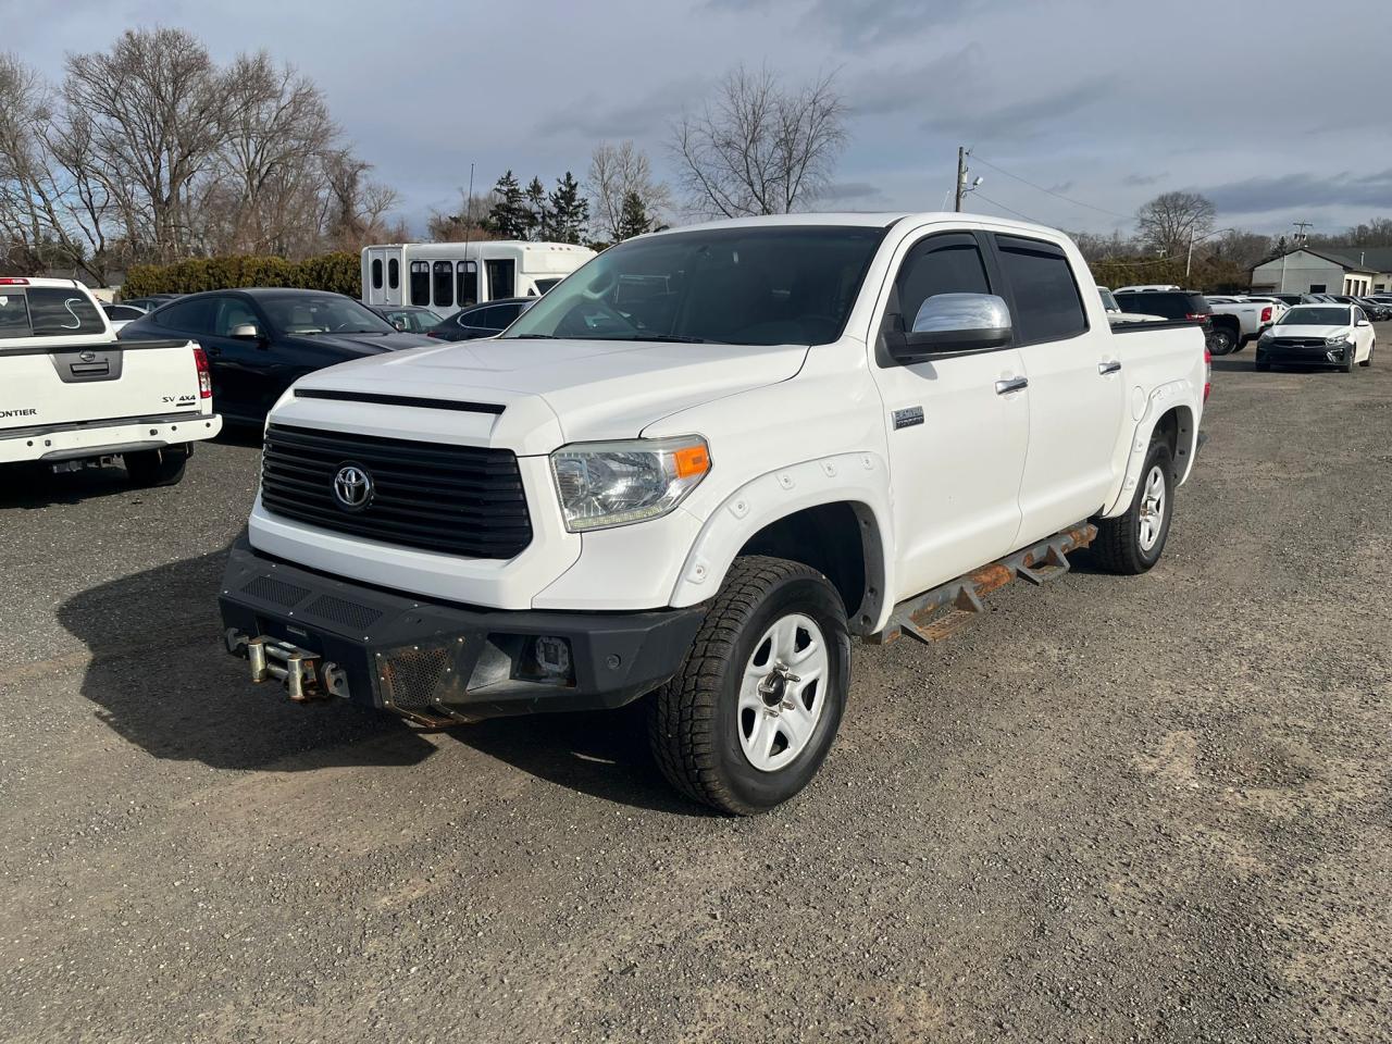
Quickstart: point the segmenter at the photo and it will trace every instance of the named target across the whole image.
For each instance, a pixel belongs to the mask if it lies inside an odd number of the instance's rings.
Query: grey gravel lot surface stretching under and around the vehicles
[[[1392,1040],[1392,329],[1217,362],[1160,567],[856,651],[818,781],[419,732],[221,653],[255,440],[0,494],[11,1041]]]

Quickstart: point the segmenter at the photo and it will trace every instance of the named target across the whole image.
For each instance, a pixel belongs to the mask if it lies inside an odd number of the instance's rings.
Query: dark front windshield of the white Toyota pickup
[[[884,238],[873,227],[711,228],[611,246],[503,334],[830,344]]]

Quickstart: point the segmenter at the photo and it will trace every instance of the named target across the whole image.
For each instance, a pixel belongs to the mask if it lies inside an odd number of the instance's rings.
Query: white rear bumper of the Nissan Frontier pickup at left
[[[35,425],[0,430],[0,464],[72,461],[163,450],[167,445],[212,438],[221,430],[223,418],[217,413],[160,413],[121,420]]]

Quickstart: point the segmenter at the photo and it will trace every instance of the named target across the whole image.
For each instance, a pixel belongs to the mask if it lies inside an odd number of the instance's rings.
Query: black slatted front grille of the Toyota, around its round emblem
[[[345,465],[372,480],[359,509],[334,493]],[[522,475],[508,450],[271,425],[262,504],[312,526],[470,558],[511,558],[532,543]]]

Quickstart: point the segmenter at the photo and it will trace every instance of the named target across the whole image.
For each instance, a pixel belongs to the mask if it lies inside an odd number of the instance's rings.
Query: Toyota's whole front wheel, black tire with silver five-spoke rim
[[[851,683],[841,596],[816,569],[736,558],[681,670],[653,693],[663,774],[721,812],[767,812],[821,767]]]

